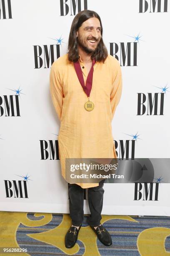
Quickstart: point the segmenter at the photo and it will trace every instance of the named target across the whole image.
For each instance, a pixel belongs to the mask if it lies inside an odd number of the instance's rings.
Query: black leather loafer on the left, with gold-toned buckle
[[[76,227],[69,228],[69,230],[67,231],[67,234],[65,236],[65,247],[66,248],[72,248],[75,245],[75,243],[77,242],[77,237],[78,237],[80,228],[81,228],[81,225],[78,230]]]

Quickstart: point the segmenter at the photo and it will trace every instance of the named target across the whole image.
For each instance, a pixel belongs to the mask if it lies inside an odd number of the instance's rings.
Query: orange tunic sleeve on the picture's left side
[[[57,116],[59,120],[61,120],[64,95],[62,91],[62,84],[60,81],[60,74],[54,64],[52,64],[50,71],[50,94],[52,98],[52,103],[57,112]]]

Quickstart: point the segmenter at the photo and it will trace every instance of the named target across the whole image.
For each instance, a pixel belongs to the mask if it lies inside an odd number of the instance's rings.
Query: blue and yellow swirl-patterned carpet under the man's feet
[[[20,255],[31,256],[170,256],[170,217],[102,215],[101,223],[112,236],[112,246],[100,243],[85,215],[76,245],[67,249],[68,214],[0,212],[0,247],[27,248],[28,252]]]

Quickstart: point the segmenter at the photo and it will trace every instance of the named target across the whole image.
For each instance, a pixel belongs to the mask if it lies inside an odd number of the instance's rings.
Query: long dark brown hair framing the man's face
[[[88,20],[89,18],[93,18],[93,17],[99,19],[99,21],[100,21],[101,39],[97,45],[96,50],[92,53],[91,59],[95,58],[96,61],[102,61],[104,63],[105,59],[107,58],[107,56],[108,56],[107,48],[102,40],[103,29],[102,29],[102,22],[101,22],[100,16],[94,11],[83,10],[80,13],[77,13],[77,15],[75,16],[75,18],[72,21],[70,35],[68,38],[68,59],[69,59],[69,61],[75,62],[79,59],[78,48],[77,48],[77,37],[76,37],[76,32],[77,32],[78,28],[80,28],[80,26],[82,25],[82,23],[84,21]]]

